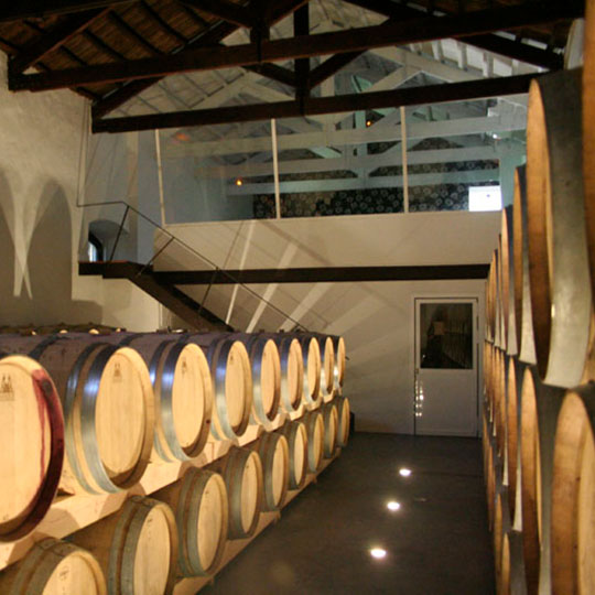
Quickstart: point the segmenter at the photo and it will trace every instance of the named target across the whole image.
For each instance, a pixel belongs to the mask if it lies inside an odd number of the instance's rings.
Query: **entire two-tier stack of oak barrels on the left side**
[[[0,334],[0,545],[18,552],[0,592],[161,594],[214,574],[347,444],[344,371],[343,338],[321,334]],[[171,479],[143,483],[158,467]],[[41,539],[58,490],[95,517]]]

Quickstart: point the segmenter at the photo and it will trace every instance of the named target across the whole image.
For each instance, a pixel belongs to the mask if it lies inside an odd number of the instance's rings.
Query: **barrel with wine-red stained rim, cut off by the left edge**
[[[64,419],[54,383],[26,356],[0,359],[0,541],[43,519],[64,462]]]

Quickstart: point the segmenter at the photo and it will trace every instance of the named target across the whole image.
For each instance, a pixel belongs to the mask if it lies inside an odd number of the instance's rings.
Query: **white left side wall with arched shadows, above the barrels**
[[[4,55],[0,79],[0,324],[155,328],[156,302],[128,281],[77,273],[87,101],[68,90],[10,93]]]

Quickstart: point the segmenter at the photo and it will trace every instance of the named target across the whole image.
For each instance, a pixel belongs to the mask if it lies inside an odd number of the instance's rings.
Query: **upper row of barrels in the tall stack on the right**
[[[586,109],[582,118],[587,74],[585,65],[531,82],[527,165],[515,174],[486,290],[488,340],[561,388],[595,379],[595,192],[587,183],[595,123],[585,120]]]

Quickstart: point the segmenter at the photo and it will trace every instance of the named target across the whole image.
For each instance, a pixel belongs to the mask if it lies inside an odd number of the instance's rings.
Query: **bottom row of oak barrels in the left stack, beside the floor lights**
[[[209,576],[227,542],[253,536],[260,515],[279,510],[348,435],[349,403],[335,397],[65,541],[42,540],[0,573],[0,592],[163,595],[180,577]]]

